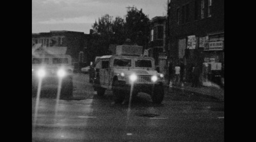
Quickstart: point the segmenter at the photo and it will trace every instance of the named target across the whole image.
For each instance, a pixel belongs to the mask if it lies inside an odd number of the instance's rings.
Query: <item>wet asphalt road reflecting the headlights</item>
[[[32,97],[33,141],[224,141],[224,103],[166,89],[162,104],[147,94],[128,105],[98,97],[88,75],[74,76],[74,99]],[[58,104],[57,104],[58,102]],[[37,111],[37,113],[35,113]]]

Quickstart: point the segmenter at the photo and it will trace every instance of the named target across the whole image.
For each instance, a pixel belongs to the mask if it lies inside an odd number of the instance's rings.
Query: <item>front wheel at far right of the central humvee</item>
[[[164,87],[163,85],[155,85],[153,94],[152,94],[152,101],[154,104],[161,104],[164,99]]]

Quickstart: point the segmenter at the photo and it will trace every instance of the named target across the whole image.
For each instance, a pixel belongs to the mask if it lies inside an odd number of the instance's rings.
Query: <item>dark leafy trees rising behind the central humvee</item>
[[[147,46],[149,35],[149,19],[137,8],[131,8],[125,15],[125,20],[121,17],[113,17],[108,14],[100,17],[92,25],[93,34],[90,40],[90,59],[95,56],[109,54],[109,45],[122,45],[125,39],[131,39],[131,43],[140,46]]]

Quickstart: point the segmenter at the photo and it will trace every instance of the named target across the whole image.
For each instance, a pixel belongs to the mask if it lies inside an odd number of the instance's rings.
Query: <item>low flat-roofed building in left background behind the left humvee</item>
[[[74,31],[50,31],[32,34],[32,46],[42,43],[44,47],[63,47],[67,48],[67,55],[72,57],[72,64],[75,69],[89,64],[87,62],[88,40],[90,34]]]

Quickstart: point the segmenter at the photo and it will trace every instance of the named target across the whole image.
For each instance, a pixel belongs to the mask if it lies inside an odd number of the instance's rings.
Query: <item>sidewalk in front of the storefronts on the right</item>
[[[184,83],[184,87],[172,85],[172,88],[212,96],[220,99],[220,101],[224,101],[224,89],[216,87],[216,85],[209,85],[207,87],[191,87],[191,83]]]

